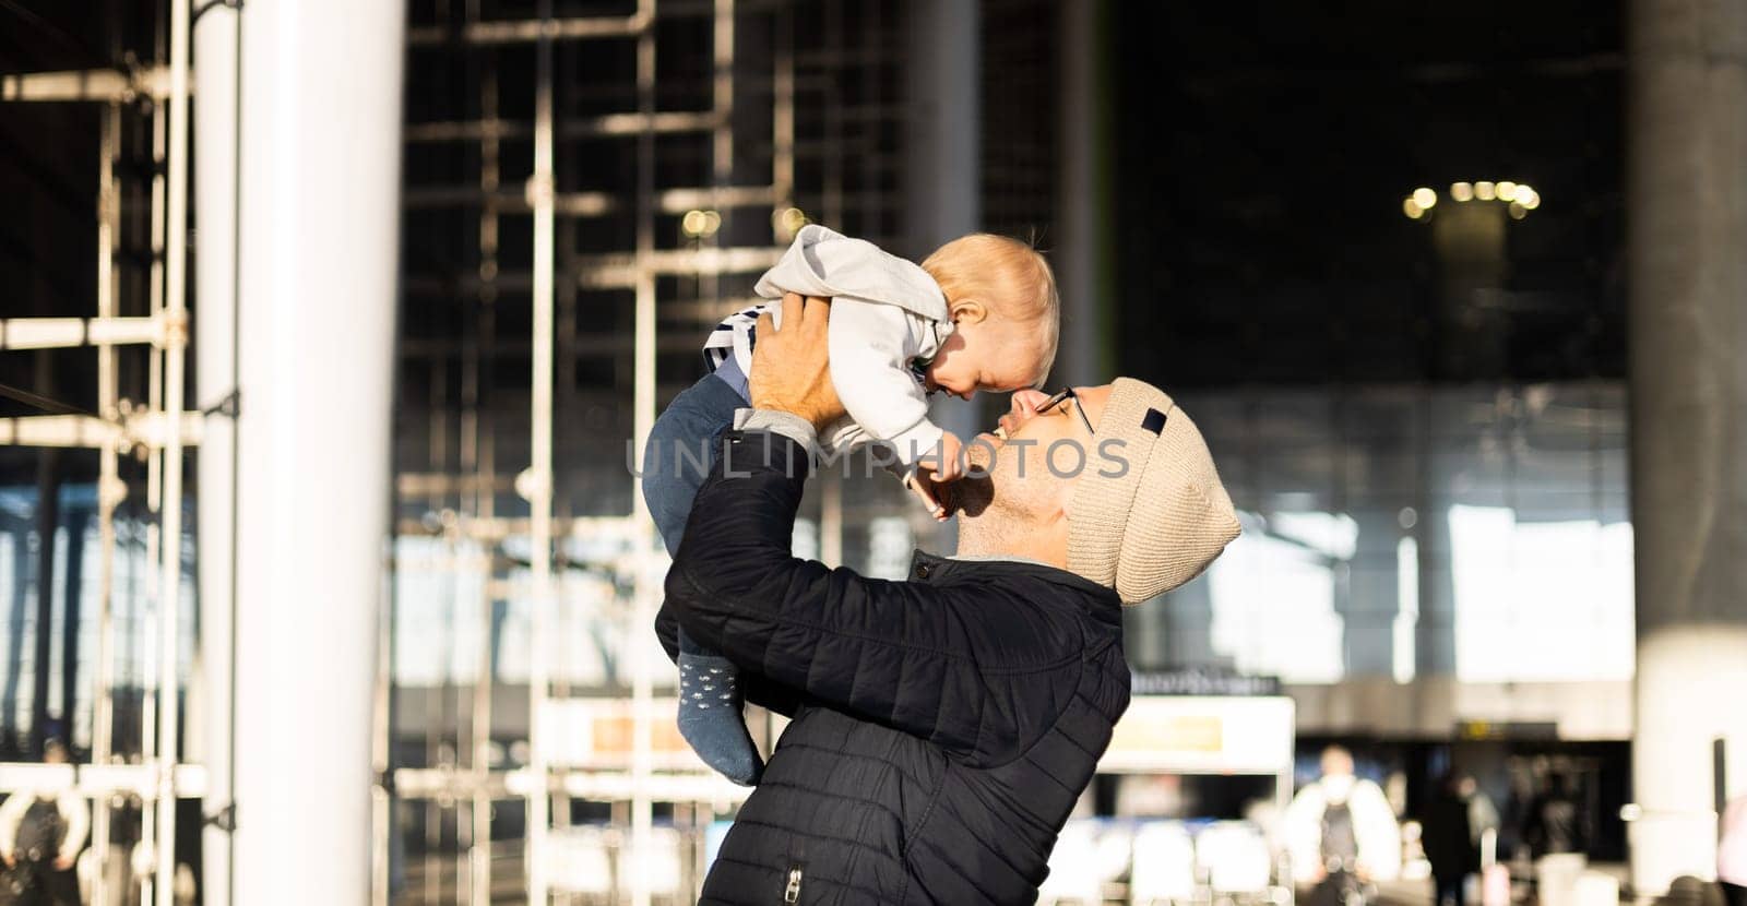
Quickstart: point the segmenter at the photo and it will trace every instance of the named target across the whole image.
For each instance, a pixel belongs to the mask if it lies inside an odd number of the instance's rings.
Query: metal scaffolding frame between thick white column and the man
[[[402,728],[388,714],[379,730],[384,751],[397,751],[397,735],[411,744],[414,731],[421,731],[419,745],[425,747],[411,763],[409,758],[391,759],[384,777],[397,801],[423,806],[426,855],[411,873],[419,880],[402,901],[519,903],[522,885],[505,882],[521,878],[503,876],[507,854],[501,845],[493,847],[491,815],[494,801],[521,800],[528,822],[521,852],[528,903],[549,903],[554,894],[559,903],[577,903],[582,896],[552,875],[559,852],[554,834],[568,833],[575,805],[592,801],[604,803],[611,826],[624,831],[617,838],[622,843],[618,878],[596,896],[646,904],[662,896],[652,889],[657,882],[673,882],[655,878],[648,861],[655,803],[674,803],[676,813],[706,822],[742,800],[746,791],[702,765],[657,766],[652,751],[657,688],[671,688],[671,679],[660,679],[666,660],[657,662],[650,646],[638,639],[646,639],[646,627],[653,623],[666,553],[634,478],[625,478],[629,494],[613,496],[627,504],[601,513],[592,501],[578,503],[566,485],[566,473],[575,475],[575,466],[554,464],[554,459],[570,463],[577,456],[557,445],[577,438],[566,421],[587,408],[577,393],[578,367],[610,361],[618,386],[629,384],[629,435],[639,452],[659,400],[683,386],[657,384],[657,374],[697,360],[704,332],[748,302],[753,278],[781,255],[798,229],[800,211],[901,248],[903,223],[889,199],[898,166],[891,145],[898,141],[905,115],[891,87],[900,54],[898,3],[638,0],[629,16],[559,19],[552,17],[552,2],[542,0],[533,19],[515,21],[487,17],[477,0],[452,7],[433,3],[438,21],[421,23],[416,9],[407,40],[414,54],[454,54],[444,58],[444,72],[466,75],[459,98],[451,96],[449,105],[459,101],[468,112],[459,119],[409,122],[404,138],[409,155],[461,148],[468,169],[477,162],[477,171],[459,183],[409,180],[404,206],[409,218],[477,211],[466,243],[477,258],[465,265],[442,262],[451,267],[409,264],[402,276],[409,312],[423,304],[451,302],[458,304],[461,323],[459,332],[447,337],[405,335],[398,351],[402,374],[419,375],[430,389],[428,396],[419,393],[404,400],[428,405],[430,412],[423,422],[428,436],[400,440],[404,449],[418,449],[423,468],[397,471],[395,529],[402,538],[440,539],[445,553],[438,562],[397,559],[397,566],[452,576],[456,594],[466,587],[459,576],[472,573],[479,580],[479,597],[454,602],[452,611],[456,620],[475,625],[479,649],[468,683],[456,684],[459,677],[445,667],[438,688],[425,690],[432,716],[426,724]],[[664,93],[674,91],[673,77],[666,65],[659,70],[657,54],[676,52],[664,49],[666,42],[680,40],[669,28],[674,23],[701,35],[701,44],[688,44],[680,52],[708,56],[695,79],[701,84],[688,94],[702,101],[699,108],[667,108],[669,94]],[[624,89],[613,94],[622,98],[624,108],[589,108],[578,115],[568,93],[580,80],[566,65],[573,65],[577,54],[603,51],[622,51],[629,58],[629,79],[606,86]],[[531,86],[515,82],[529,70],[529,58]],[[409,93],[419,91],[418,84],[414,63]],[[522,89],[533,94],[531,105],[508,94]],[[797,117],[797,105],[805,105],[802,117]],[[526,119],[505,119],[507,108],[521,110],[517,115]],[[798,138],[797,127],[805,134]],[[631,148],[627,169],[634,173],[611,189],[577,187],[583,166],[580,148],[590,141],[624,141]],[[674,141],[695,141],[704,164],[680,168],[676,154],[681,152],[674,150]],[[694,173],[701,182],[676,182],[673,169]],[[704,229],[676,229],[687,223],[678,215],[688,213],[697,215]],[[603,223],[611,229],[603,230]],[[763,232],[765,223],[769,232]],[[522,239],[507,229],[529,229],[531,234]],[[601,232],[620,239],[603,243]],[[528,319],[510,307],[524,299],[531,311]],[[601,299],[627,302],[627,332],[589,330],[589,319],[622,323],[615,321],[613,312],[622,311],[617,304],[611,311],[594,305]],[[517,330],[507,332],[507,323],[515,323]],[[521,363],[528,367],[526,452],[521,442],[505,435],[505,429],[521,429],[514,424],[519,417],[505,405],[508,400],[500,405],[491,400],[494,391],[501,393],[494,386],[501,382],[493,368],[498,360],[517,363],[517,370]],[[596,388],[590,391],[599,396]],[[519,400],[517,393],[519,388],[512,389],[510,398]],[[517,471],[522,463],[528,468]],[[505,506],[521,506],[505,494],[512,489],[526,501],[526,517],[505,511]],[[826,480],[819,489],[819,555],[840,562],[842,484]],[[590,564],[571,553],[578,545],[608,546],[617,553],[611,562]],[[589,601],[566,590],[568,576],[596,567],[620,580],[617,595]],[[514,714],[503,716],[508,700],[500,686],[505,681],[493,663],[493,627],[514,601],[531,604],[533,637],[528,758],[521,766],[494,759],[498,742],[514,731],[498,728],[498,740],[493,738],[494,719],[514,719]],[[618,646],[622,662],[615,674],[624,688],[577,690],[568,674],[554,670],[554,658],[563,656],[554,641],[568,628],[561,614],[578,604],[594,620],[629,627],[620,635],[629,641]],[[445,644],[452,646],[458,635],[447,632]],[[452,660],[454,653],[445,651],[444,658]],[[393,684],[395,677],[384,676],[384,683]],[[383,695],[404,698],[393,690]],[[625,763],[552,763],[552,717],[578,697],[631,702]],[[687,862],[694,871],[681,882],[692,887],[681,899],[695,894],[701,883],[695,871],[702,864],[701,836]],[[449,840],[452,854],[444,852]],[[379,866],[379,876],[386,878],[388,871]],[[386,882],[379,883],[379,903],[386,889]]]

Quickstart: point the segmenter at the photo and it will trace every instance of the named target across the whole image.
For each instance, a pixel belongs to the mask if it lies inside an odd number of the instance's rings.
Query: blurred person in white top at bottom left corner
[[[65,765],[66,745],[49,740],[45,765]],[[77,906],[79,876],[73,864],[86,847],[91,808],[75,789],[19,791],[0,805],[0,903],[7,906]]]

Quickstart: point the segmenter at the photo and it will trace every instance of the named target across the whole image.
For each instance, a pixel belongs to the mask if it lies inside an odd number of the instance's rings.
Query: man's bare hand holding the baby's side
[[[790,412],[816,429],[844,417],[844,403],[832,384],[826,353],[828,299],[795,293],[783,297],[783,328],[770,312],[758,316],[753,374],[748,375],[753,408]]]

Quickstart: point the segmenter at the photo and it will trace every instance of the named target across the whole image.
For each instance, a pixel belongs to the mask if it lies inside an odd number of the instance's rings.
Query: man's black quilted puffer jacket
[[[704,903],[1032,903],[1129,707],[1122,606],[1041,564],[910,581],[790,557],[807,450],[730,431],[667,574],[674,621],[790,714]]]

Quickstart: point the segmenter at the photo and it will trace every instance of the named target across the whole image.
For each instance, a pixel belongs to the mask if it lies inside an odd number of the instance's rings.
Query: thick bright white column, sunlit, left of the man
[[[243,12],[234,899],[362,904],[405,7]]]

